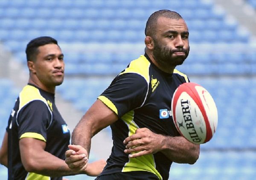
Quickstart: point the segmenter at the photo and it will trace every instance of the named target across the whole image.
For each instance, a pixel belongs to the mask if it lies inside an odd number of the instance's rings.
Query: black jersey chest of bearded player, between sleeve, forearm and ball
[[[140,127],[154,129],[160,134],[177,135],[171,103],[172,96],[181,83],[183,82],[173,76],[151,76],[147,98],[143,106],[134,111],[134,121]]]

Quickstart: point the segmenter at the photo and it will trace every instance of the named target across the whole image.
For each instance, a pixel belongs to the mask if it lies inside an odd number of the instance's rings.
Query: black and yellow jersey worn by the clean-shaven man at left
[[[65,159],[70,131],[55,106],[54,94],[28,84],[19,94],[9,117],[8,180],[62,180],[28,173],[21,162],[19,140],[32,137],[46,142],[45,151]]]

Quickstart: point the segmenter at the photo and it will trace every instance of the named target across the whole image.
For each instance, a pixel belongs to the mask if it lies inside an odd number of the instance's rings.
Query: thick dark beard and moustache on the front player
[[[185,56],[172,57],[172,54],[175,52],[184,52]],[[188,49],[170,49],[166,45],[154,41],[153,57],[154,60],[162,67],[173,67],[181,65],[184,62],[184,60],[188,57],[188,55],[189,47]]]

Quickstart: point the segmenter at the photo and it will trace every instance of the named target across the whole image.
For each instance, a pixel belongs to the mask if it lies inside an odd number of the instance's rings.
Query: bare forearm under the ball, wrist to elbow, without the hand
[[[194,164],[199,157],[200,146],[189,142],[184,137],[169,137],[160,135],[161,152],[175,163]]]

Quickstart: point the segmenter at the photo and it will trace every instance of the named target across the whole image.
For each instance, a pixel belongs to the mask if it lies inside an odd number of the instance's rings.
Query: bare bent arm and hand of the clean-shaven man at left
[[[75,174],[97,176],[105,166],[105,162],[99,160],[88,164],[88,169],[80,169],[74,172],[69,169],[64,160],[45,151],[46,143],[42,140],[32,137],[21,138],[19,146],[22,164],[26,171],[45,176],[67,176]],[[79,156],[82,155],[80,154]]]

